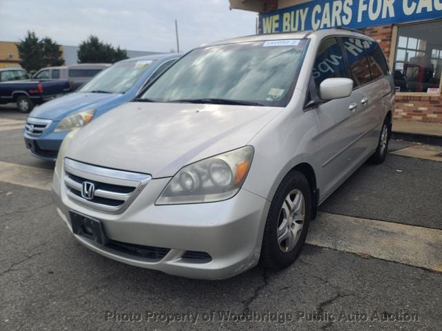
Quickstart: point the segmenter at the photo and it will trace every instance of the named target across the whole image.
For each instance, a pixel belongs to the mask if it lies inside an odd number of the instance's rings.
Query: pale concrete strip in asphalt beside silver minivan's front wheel
[[[318,212],[306,243],[442,272],[439,229]]]

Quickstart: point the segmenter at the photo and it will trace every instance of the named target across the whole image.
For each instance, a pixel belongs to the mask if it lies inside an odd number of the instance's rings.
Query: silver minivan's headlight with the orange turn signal
[[[230,199],[247,177],[253,147],[245,146],[186,165],[169,181],[157,205],[203,203]]]

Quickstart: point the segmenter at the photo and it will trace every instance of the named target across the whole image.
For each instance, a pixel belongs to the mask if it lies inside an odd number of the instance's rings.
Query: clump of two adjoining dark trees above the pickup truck
[[[28,72],[64,64],[63,52],[57,43],[49,37],[39,39],[33,31],[28,31],[25,38],[17,43],[17,49],[20,66]]]

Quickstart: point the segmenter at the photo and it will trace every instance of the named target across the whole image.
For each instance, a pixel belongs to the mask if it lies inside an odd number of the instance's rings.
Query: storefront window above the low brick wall
[[[442,21],[398,27],[394,84],[398,92],[439,93]]]

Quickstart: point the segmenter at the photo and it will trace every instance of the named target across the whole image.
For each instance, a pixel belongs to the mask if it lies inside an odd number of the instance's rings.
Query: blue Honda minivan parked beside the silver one
[[[76,92],[35,108],[23,130],[26,146],[35,157],[55,160],[68,132],[134,99],[179,57],[155,54],[119,61]]]

